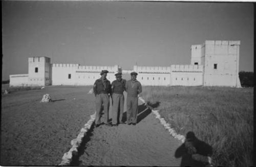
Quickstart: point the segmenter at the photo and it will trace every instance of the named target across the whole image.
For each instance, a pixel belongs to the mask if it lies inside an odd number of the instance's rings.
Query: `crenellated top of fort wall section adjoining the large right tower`
[[[171,65],[172,72],[203,72],[203,65]]]

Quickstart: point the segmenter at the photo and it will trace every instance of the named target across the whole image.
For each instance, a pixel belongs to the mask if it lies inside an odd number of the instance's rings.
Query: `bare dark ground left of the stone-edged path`
[[[2,96],[1,165],[59,164],[94,113],[90,88],[49,86]],[[40,103],[46,93],[53,102]]]

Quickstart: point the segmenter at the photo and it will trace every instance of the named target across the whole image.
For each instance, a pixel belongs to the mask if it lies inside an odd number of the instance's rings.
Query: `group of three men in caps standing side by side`
[[[95,127],[101,124],[101,108],[103,104],[104,114],[105,114],[105,124],[112,126],[109,122],[109,97],[112,96],[113,110],[112,110],[112,123],[117,126],[118,122],[124,124],[122,120],[123,115],[123,104],[124,96],[123,91],[127,92],[127,124],[136,125],[137,114],[138,114],[138,95],[142,92],[142,87],[139,81],[136,80],[137,73],[131,73],[131,80],[125,81],[122,79],[122,74],[115,74],[116,80],[110,84],[110,81],[106,79],[106,74],[109,73],[108,70],[102,70],[100,75],[101,78],[97,79],[93,85],[93,91],[96,97],[96,117],[95,117]],[[120,113],[118,114],[118,110]]]

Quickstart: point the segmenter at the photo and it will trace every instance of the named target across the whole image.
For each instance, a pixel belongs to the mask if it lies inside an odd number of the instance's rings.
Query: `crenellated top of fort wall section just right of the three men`
[[[156,74],[168,74],[170,73],[170,67],[168,66],[137,66],[133,67],[137,73],[156,73]]]

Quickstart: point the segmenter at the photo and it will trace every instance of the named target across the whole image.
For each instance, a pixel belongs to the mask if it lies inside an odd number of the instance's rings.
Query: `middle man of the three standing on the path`
[[[112,108],[112,125],[117,126],[118,123],[124,124],[122,122],[123,116],[123,91],[125,90],[125,82],[126,80],[122,79],[122,74],[115,74],[116,80],[112,82],[112,100],[113,100],[113,108]],[[118,113],[118,109],[120,108],[120,112]]]

